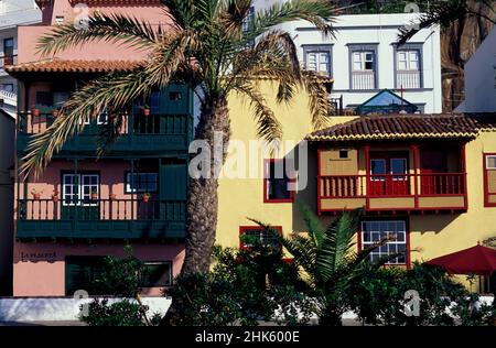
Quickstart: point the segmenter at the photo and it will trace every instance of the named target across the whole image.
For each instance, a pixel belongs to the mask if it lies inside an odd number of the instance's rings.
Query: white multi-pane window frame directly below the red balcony
[[[379,229],[377,231],[375,231],[375,230],[366,231],[365,230],[365,224],[366,222],[379,224]],[[386,228],[384,230],[380,227],[381,224],[392,224],[392,222],[393,224],[402,224],[402,230],[400,230],[400,231],[389,231],[388,228]],[[368,241],[365,241],[365,238],[364,238],[365,233],[369,233],[370,235],[370,238],[369,238]],[[373,233],[379,233],[379,240],[374,240]],[[405,246],[405,262],[398,262],[398,260],[396,259],[396,260],[391,260],[391,261],[387,262],[386,264],[407,264],[408,263],[408,259],[409,259],[408,258],[408,253],[409,253],[408,240],[407,240],[407,238],[408,238],[407,221],[406,220],[363,220],[362,221],[362,229],[360,229],[362,249],[364,250],[367,247],[370,247],[374,243],[380,241],[381,240],[381,238],[380,238],[381,233],[386,233],[386,237],[390,237],[391,233],[395,233],[397,236],[398,236],[398,233],[402,233],[402,236],[403,236],[403,238],[402,238],[403,240],[402,241],[398,241],[398,240],[388,241],[384,247],[388,247],[388,249],[389,249],[389,246],[393,244],[393,246],[396,246],[395,249],[398,251],[398,249],[399,249],[398,246],[400,246],[400,244]],[[371,252],[371,254],[370,254],[370,258],[371,258],[373,254],[379,255],[379,257],[384,257],[384,255],[388,255],[389,254],[389,250],[388,250],[388,252],[384,252],[384,251],[380,250],[380,248],[381,247],[379,247],[376,250],[374,250]]]

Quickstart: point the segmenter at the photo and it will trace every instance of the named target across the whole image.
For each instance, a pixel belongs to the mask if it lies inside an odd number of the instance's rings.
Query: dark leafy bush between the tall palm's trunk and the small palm
[[[250,242],[249,249],[216,247],[208,274],[180,275],[168,295],[175,325],[257,325],[259,320],[302,325],[311,302],[295,265],[282,260],[279,247]]]

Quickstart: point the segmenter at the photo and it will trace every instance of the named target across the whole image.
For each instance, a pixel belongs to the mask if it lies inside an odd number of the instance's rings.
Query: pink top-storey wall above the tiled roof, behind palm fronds
[[[82,1],[84,2],[84,1]],[[163,7],[158,4],[150,6],[107,6],[107,7],[90,7],[89,14],[95,11],[101,13],[120,13],[128,14],[133,18],[142,19],[152,25],[162,25],[166,28],[166,23],[170,22],[165,14]],[[51,14],[50,14],[51,13]],[[72,21],[79,15],[79,12],[75,12],[68,0],[55,0],[53,12],[47,8],[43,10],[43,18],[48,19],[52,25],[55,25],[56,17],[64,17],[64,22]],[[19,26],[19,47],[18,59],[19,63],[35,62],[42,57],[37,54],[36,45],[37,40],[46,32],[50,31],[50,25],[45,22],[45,25],[29,25]],[[138,52],[132,48],[125,48],[117,44],[109,44],[103,42],[96,42],[84,45],[82,48],[69,48],[67,51],[56,54],[58,58],[65,59],[128,59],[139,61],[145,56],[145,52]]]

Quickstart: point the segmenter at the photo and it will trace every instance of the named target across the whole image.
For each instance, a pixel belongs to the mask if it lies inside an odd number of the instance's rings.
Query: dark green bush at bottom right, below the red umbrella
[[[419,293],[418,316],[408,316],[405,304],[409,290]],[[366,270],[354,284],[348,301],[365,324],[371,325],[490,325],[495,315],[488,305],[477,305],[478,295],[470,293],[442,269],[414,263],[402,271],[395,268]]]

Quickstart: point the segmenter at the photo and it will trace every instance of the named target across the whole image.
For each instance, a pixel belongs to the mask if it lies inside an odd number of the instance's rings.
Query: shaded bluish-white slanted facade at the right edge
[[[496,111],[496,28],[465,64],[465,100],[455,111]]]

